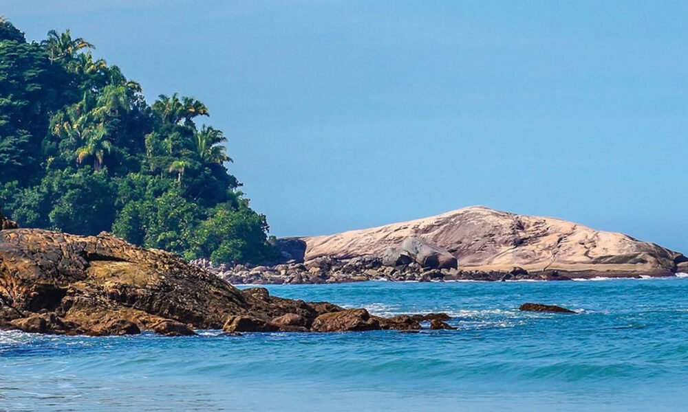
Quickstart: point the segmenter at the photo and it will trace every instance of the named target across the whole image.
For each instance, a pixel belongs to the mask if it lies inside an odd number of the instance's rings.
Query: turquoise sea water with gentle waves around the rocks
[[[270,286],[455,331],[0,332],[0,411],[688,410],[688,279]],[[579,314],[519,312],[526,301]]]

